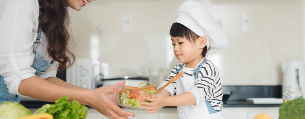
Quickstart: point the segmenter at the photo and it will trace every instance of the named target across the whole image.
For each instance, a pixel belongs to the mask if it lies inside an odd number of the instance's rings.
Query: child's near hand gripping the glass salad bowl
[[[152,97],[144,97],[144,100],[148,100],[150,103],[141,102],[141,105],[144,105],[142,108],[147,109],[148,113],[155,113],[162,107],[166,106],[166,98],[167,96],[163,94],[152,95]]]

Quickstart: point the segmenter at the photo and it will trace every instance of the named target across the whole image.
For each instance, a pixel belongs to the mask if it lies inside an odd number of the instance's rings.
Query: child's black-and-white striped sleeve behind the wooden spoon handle
[[[165,81],[163,81],[158,87],[157,89],[161,88],[162,86],[164,86],[167,82],[170,81],[170,79],[172,79],[176,74],[176,70],[179,69],[181,67],[182,64],[180,65],[176,65],[171,72],[169,73],[169,75],[167,76],[167,79],[165,79]],[[176,93],[176,82],[171,83],[170,85],[168,85],[167,87],[164,88],[167,92],[170,93],[170,96],[175,95]]]

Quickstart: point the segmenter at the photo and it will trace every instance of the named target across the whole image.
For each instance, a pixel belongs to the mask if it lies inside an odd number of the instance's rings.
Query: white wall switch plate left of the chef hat
[[[123,14],[123,32],[124,33],[133,32],[132,14]]]

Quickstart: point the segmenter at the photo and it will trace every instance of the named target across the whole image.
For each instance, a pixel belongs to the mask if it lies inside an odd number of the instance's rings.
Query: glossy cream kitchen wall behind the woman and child
[[[90,57],[89,38],[101,24],[105,30],[100,35],[100,61],[109,64],[110,77],[119,75],[120,68],[172,68],[179,62],[172,54],[168,33],[184,1],[98,0],[80,12],[70,10],[76,56]],[[221,70],[223,85],[281,84],[280,63],[305,56],[301,3],[212,0],[211,14],[229,38],[228,48],[209,56]],[[249,33],[242,33],[242,13],[250,15]],[[132,33],[122,32],[123,14],[133,15]]]

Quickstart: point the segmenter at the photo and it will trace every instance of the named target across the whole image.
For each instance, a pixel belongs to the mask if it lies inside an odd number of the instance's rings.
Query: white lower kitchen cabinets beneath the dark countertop
[[[30,109],[35,112],[37,109]],[[129,117],[130,119],[177,119],[177,109],[174,107],[163,108],[154,114],[147,113],[145,110],[130,110],[136,117]],[[254,119],[259,113],[266,113],[272,119],[278,119],[279,107],[224,107],[224,113],[227,119]],[[106,116],[100,114],[93,108],[88,109],[87,119],[108,119]]]

